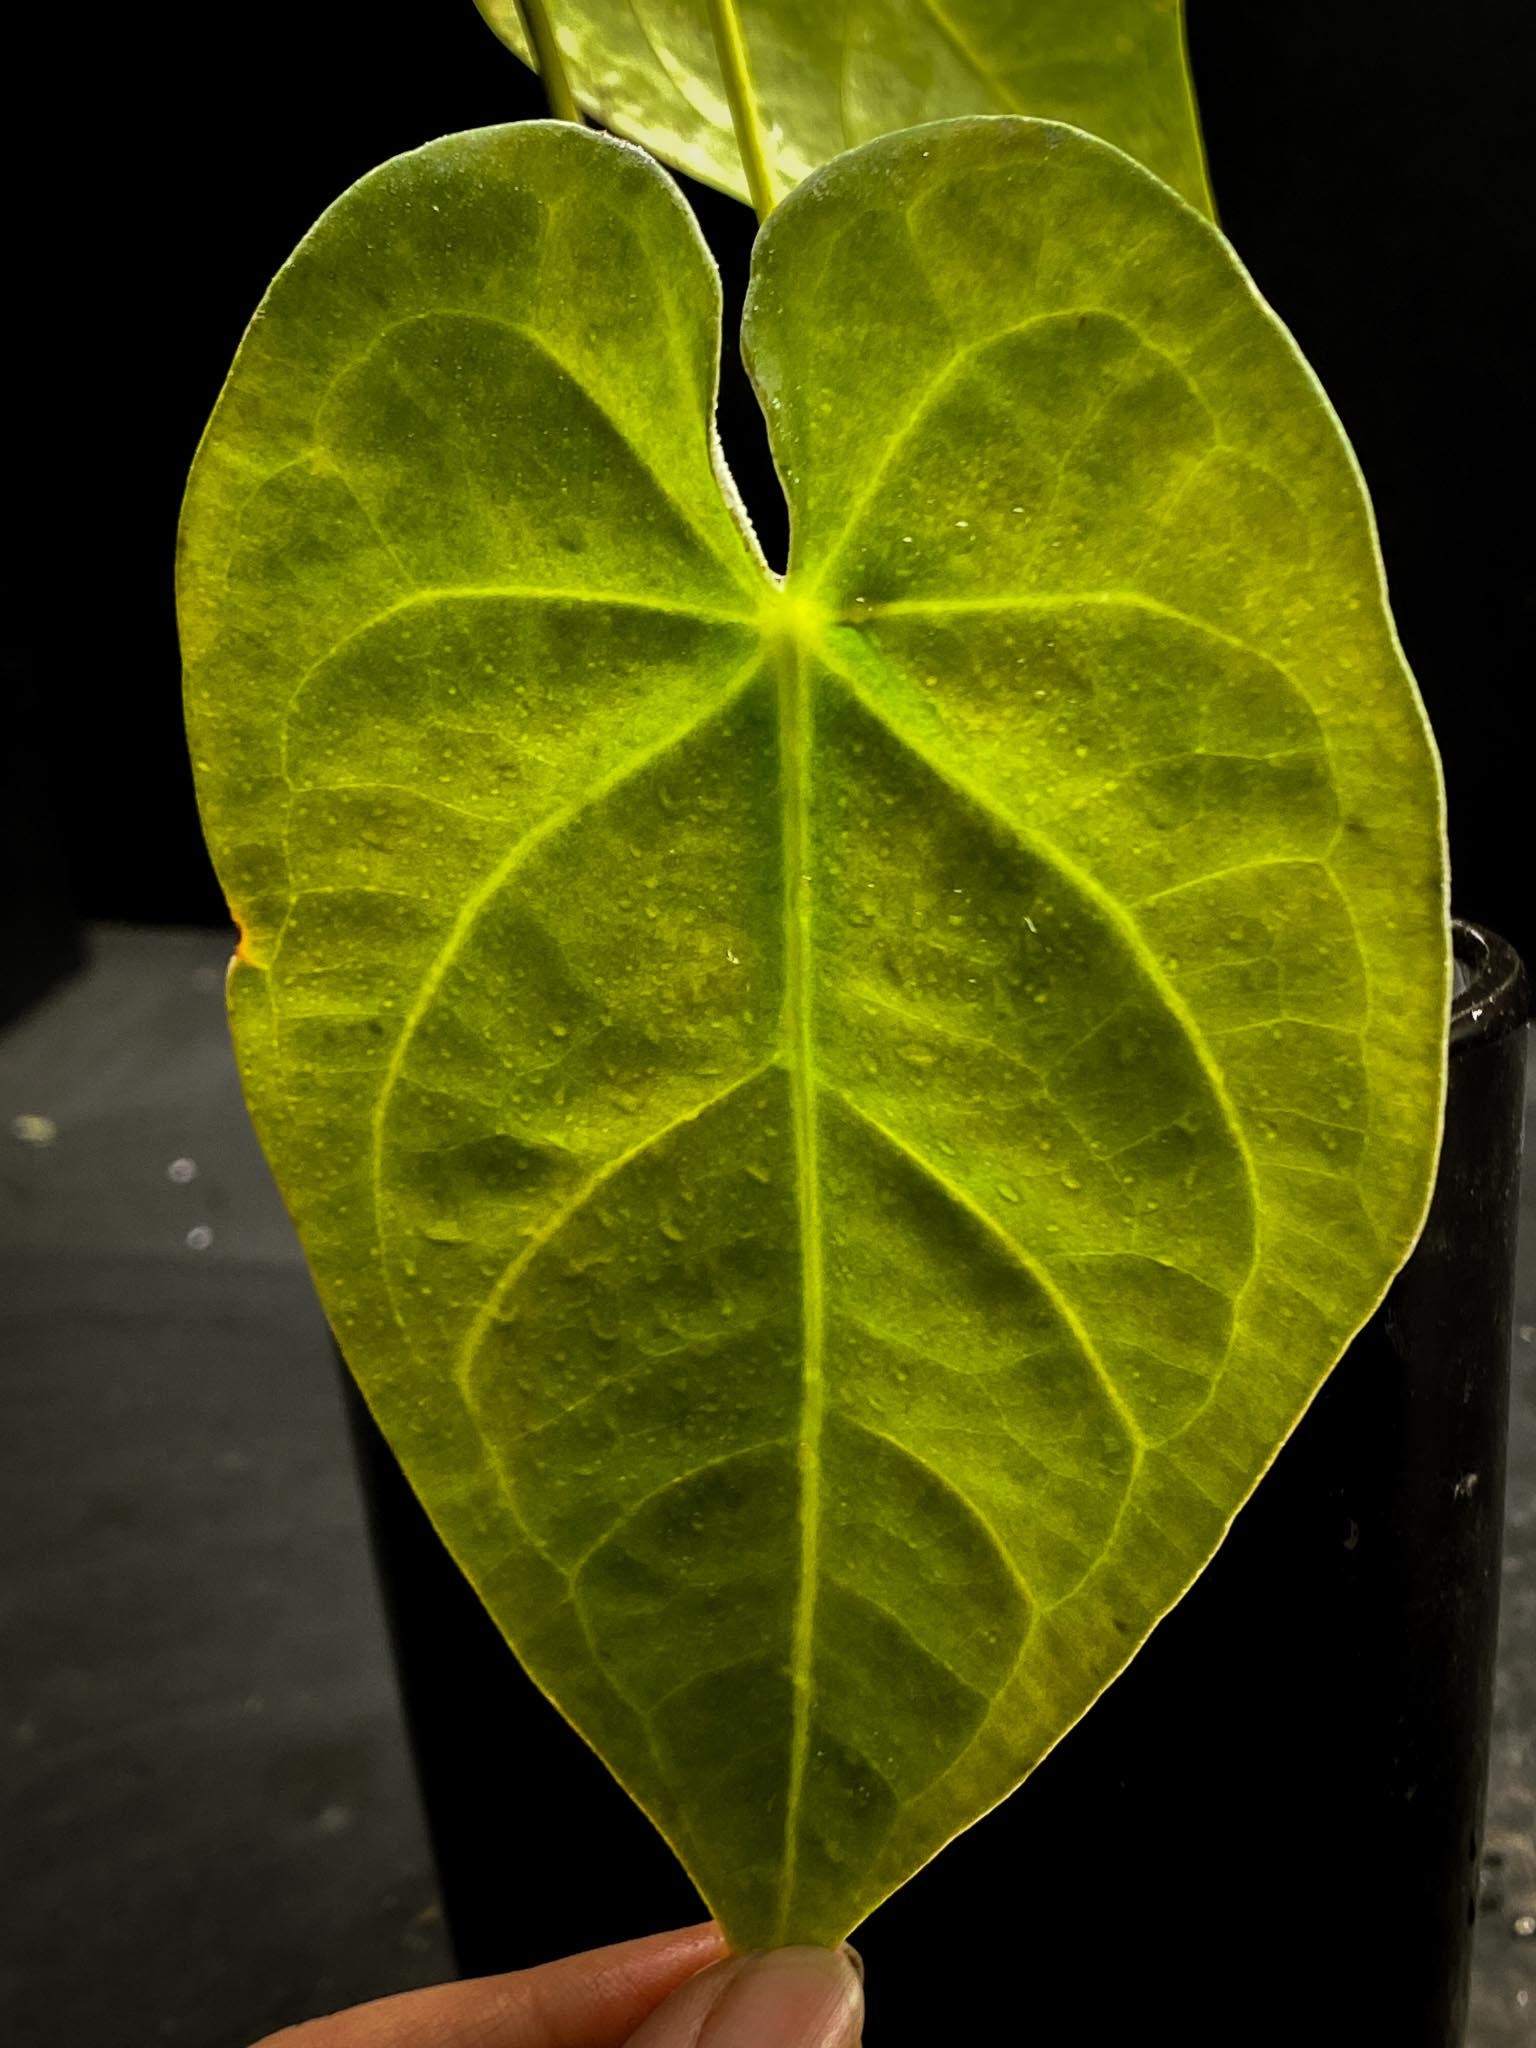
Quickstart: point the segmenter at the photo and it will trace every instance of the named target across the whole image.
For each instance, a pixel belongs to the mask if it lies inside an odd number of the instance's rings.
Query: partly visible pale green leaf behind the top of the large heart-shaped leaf
[[[516,0],[475,0],[530,63]],[[778,195],[854,143],[1038,115],[1116,143],[1210,213],[1182,0],[739,0]],[[549,0],[582,106],[748,199],[707,0]]]

